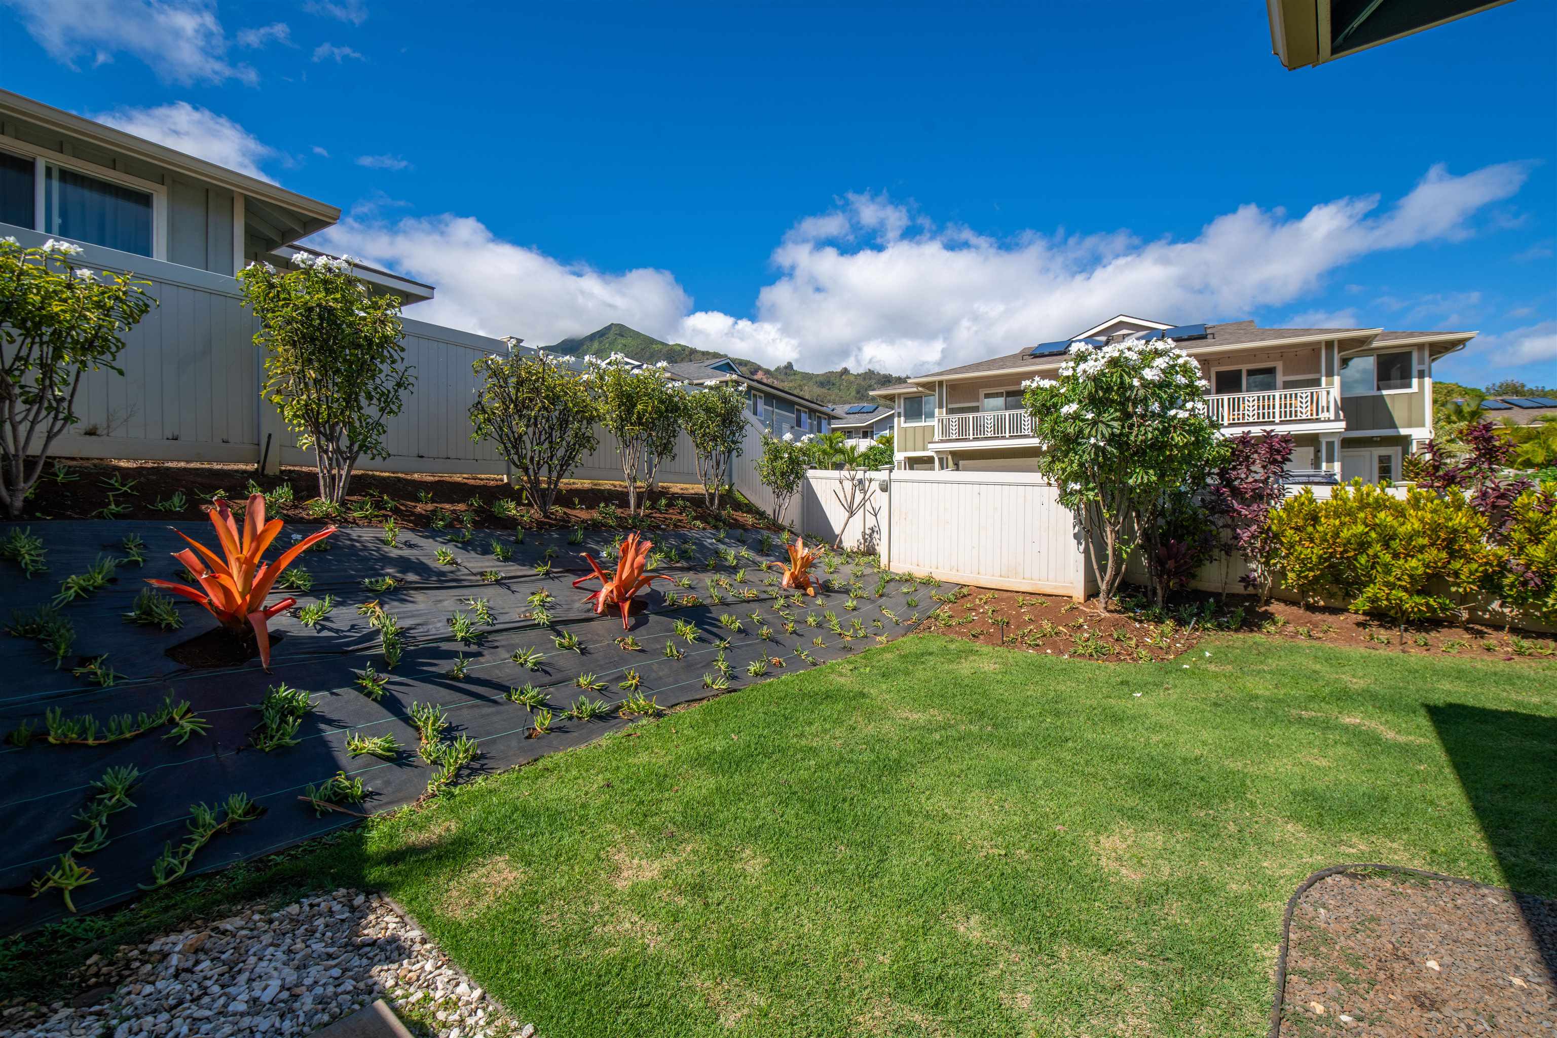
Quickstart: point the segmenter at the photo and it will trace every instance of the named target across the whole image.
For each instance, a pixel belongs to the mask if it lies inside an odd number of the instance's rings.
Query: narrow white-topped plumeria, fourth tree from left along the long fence
[[[640,486],[652,484],[660,459],[676,453],[685,383],[671,381],[666,367],[663,361],[634,364],[621,353],[584,358],[584,383],[599,405],[601,425],[617,440],[632,515],[646,504]]]

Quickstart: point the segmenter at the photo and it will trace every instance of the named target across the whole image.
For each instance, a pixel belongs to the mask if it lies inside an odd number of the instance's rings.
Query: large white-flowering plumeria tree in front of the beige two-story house
[[[1200,366],[1171,339],[1071,342],[1059,378],[1025,389],[1039,468],[1081,523],[1107,608],[1141,524],[1169,490],[1196,486],[1214,464],[1219,437]]]

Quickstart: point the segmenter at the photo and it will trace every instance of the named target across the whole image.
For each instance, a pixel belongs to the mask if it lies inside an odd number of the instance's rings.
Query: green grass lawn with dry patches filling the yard
[[[1244,1036],[1342,861],[1557,893],[1557,668],[916,636],[227,889],[381,887],[545,1035]]]

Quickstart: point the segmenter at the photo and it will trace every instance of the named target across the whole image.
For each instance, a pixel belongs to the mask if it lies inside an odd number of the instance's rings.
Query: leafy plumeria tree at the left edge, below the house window
[[[0,238],[0,496],[22,514],[54,440],[75,425],[89,370],[114,366],[156,302],[129,274],[89,271],[81,246],[50,238],[23,249]]]

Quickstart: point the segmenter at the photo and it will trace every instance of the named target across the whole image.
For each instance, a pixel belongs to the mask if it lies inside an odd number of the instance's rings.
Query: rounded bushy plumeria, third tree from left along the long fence
[[[545,352],[492,353],[472,364],[481,377],[470,405],[472,440],[492,440],[542,515],[557,487],[595,450],[599,405],[576,373]]]

